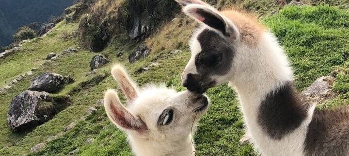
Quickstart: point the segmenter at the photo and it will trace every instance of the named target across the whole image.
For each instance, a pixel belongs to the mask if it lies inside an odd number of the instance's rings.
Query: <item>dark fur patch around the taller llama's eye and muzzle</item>
[[[198,74],[188,74],[183,86],[196,93],[204,93],[208,88],[216,86],[216,81],[211,76],[225,75],[229,72],[233,62],[235,49],[227,40],[217,32],[205,29],[198,36],[197,40],[201,46],[201,52],[195,56],[195,67]],[[206,61],[203,61],[205,58]],[[211,59],[221,58],[213,61],[213,66],[207,66],[203,62],[210,62]]]

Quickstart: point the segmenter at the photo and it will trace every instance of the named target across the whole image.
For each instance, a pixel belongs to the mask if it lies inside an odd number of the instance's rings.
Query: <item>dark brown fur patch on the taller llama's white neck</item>
[[[261,102],[258,122],[272,139],[282,139],[305,120],[308,106],[298,98],[291,82],[272,90]]]

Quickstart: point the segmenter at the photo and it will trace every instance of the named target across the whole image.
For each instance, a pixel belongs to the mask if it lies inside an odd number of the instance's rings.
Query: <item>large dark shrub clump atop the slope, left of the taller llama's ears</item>
[[[88,6],[88,14],[80,19],[79,36],[81,46],[94,52],[125,31],[131,39],[143,39],[179,11],[174,0],[100,0]]]

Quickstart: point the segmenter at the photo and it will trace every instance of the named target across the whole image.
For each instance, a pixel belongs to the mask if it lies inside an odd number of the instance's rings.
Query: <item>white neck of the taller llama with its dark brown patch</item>
[[[253,62],[237,69],[230,83],[238,91],[248,132],[262,154],[301,156],[313,108],[298,99],[279,44],[268,34],[264,37],[254,56],[247,56],[254,57],[249,58]]]

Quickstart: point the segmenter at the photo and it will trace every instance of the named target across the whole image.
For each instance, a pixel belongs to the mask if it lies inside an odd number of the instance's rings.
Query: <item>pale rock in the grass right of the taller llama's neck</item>
[[[301,94],[312,104],[319,104],[330,100],[336,95],[332,90],[334,80],[335,78],[332,76],[322,76]]]

